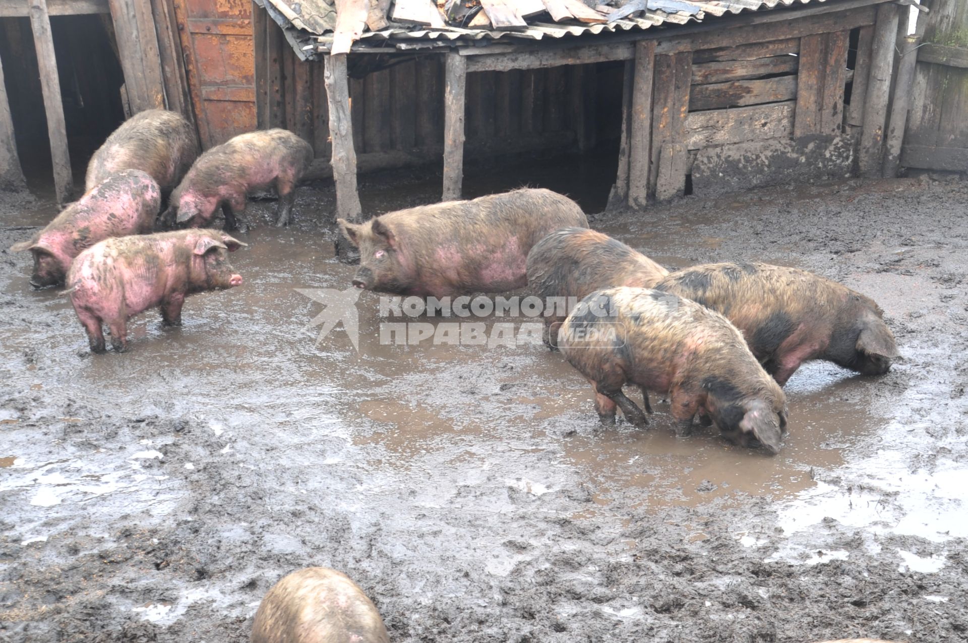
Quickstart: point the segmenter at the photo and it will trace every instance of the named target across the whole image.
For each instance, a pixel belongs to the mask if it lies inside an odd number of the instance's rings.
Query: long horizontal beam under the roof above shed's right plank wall
[[[746,15],[743,20],[737,19],[741,16],[736,16],[728,21],[714,20],[709,24],[702,25],[702,30],[700,27],[676,29],[675,32],[680,35],[658,38],[655,52],[666,54],[694,49],[748,45],[853,29],[866,24],[873,24],[876,8],[864,5],[874,5],[880,2],[884,2],[884,0],[866,0],[862,3],[829,3],[826,6],[815,7],[813,11],[799,11],[797,12],[797,19],[791,19],[791,15],[786,12],[763,12]],[[851,6],[857,8],[848,9]],[[759,19],[755,20],[754,18]],[[747,22],[747,24],[732,27],[732,25],[741,22]],[[689,33],[690,31],[693,33]]]

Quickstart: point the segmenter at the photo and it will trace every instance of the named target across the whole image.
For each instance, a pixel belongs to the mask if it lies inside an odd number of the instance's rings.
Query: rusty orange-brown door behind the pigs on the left
[[[174,0],[204,148],[256,129],[252,0]]]

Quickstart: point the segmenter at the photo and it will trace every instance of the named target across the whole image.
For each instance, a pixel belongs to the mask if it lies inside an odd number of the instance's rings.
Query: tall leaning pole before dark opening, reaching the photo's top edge
[[[54,56],[54,40],[50,33],[46,0],[30,0],[30,26],[34,30],[34,47],[37,49],[37,65],[41,72],[47,137],[50,138],[50,159],[54,166],[54,193],[57,202],[64,204],[74,192],[74,175],[71,173],[64,104],[61,101],[60,78],[57,76],[57,59]]]

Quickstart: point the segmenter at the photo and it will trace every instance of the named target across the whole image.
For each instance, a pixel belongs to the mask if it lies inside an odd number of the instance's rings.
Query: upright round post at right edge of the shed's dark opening
[[[654,69],[655,41],[638,41],[635,44],[628,137],[628,204],[636,208],[645,207],[649,199]]]

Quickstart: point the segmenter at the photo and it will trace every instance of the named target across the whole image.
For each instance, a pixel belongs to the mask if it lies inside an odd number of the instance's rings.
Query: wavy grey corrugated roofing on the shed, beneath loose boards
[[[354,0],[256,0],[265,6],[271,15],[284,29],[287,39],[296,49],[300,57],[306,58],[316,53],[329,51],[333,43],[333,32],[336,29],[337,7],[344,2]],[[367,0],[363,0],[367,1]],[[455,0],[470,4],[468,0]],[[476,3],[477,0],[471,0]],[[460,42],[493,40],[507,43],[523,40],[540,41],[547,38],[563,38],[565,36],[584,36],[588,34],[616,33],[650,29],[659,25],[685,24],[690,21],[702,22],[708,16],[739,14],[743,11],[756,12],[792,5],[807,3],[836,2],[837,0],[636,0],[647,6],[639,11],[615,19],[611,22],[587,23],[575,19],[553,22],[548,14],[542,13],[524,18],[527,26],[515,30],[496,30],[492,28],[472,28],[445,24],[442,27],[426,25],[407,25],[390,22],[389,26],[378,31],[364,30],[359,41],[353,44],[352,50],[372,50],[374,48],[416,49],[434,46],[454,46]],[[427,0],[433,3],[434,0]],[[513,6],[513,0],[506,0]],[[608,4],[606,4],[608,2]],[[648,3],[648,4],[647,4]],[[378,3],[367,4],[373,10]],[[627,5],[627,0],[602,0],[600,3],[602,17],[604,10],[616,11]],[[386,7],[385,4],[383,4]],[[436,5],[431,4],[435,8]],[[654,8],[653,8],[654,7]],[[662,11],[665,9],[681,9],[681,11]],[[387,12],[387,18],[392,12]],[[444,18],[443,12],[440,12]]]

